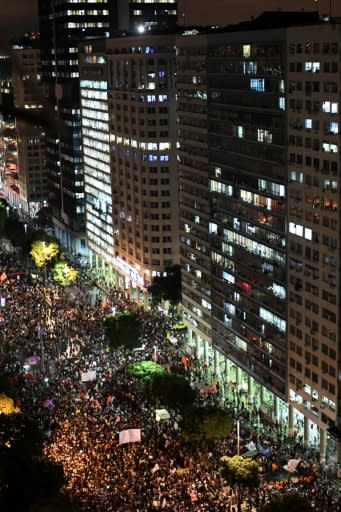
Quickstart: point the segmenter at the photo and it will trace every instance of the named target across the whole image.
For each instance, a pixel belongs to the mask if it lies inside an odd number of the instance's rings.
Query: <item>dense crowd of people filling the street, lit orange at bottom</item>
[[[236,408],[221,395],[219,386],[212,393],[198,393],[198,400],[213,401],[235,419],[243,419],[241,440],[235,426],[222,441],[185,443],[178,411],[156,421],[156,401],[129,376],[127,359],[156,357],[173,371],[185,373],[199,388],[212,384],[194,355],[186,353],[183,364],[185,346],[181,337],[176,344],[169,338],[170,318],[146,311],[114,290],[108,293],[105,307],[100,294],[93,304],[92,283],[87,279],[63,290],[50,281],[32,280],[8,255],[0,257],[0,266],[2,368],[18,376],[21,392],[16,405],[36,418],[44,434],[43,452],[62,465],[64,492],[82,510],[232,512],[235,497],[219,473],[219,460],[239,450],[246,452],[250,443],[271,450],[257,455],[260,471],[264,467],[262,485],[248,496],[245,506],[261,510],[280,491],[271,478],[275,466],[285,463],[276,445],[277,427],[256,427],[252,410],[244,403]],[[127,355],[107,349],[103,317],[108,307],[137,313],[143,350]],[[129,429],[140,430],[141,440],[120,444],[119,433]],[[295,457],[300,449],[297,444],[290,447],[285,457]],[[306,458],[304,471],[312,478],[296,483],[288,478],[283,485],[309,494],[316,510],[331,506],[341,510],[316,453]]]

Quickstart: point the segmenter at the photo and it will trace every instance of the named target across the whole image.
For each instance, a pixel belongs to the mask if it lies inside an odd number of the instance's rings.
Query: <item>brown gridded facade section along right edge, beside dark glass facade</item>
[[[288,29],[288,392],[322,451],[341,426],[340,48],[340,23]]]

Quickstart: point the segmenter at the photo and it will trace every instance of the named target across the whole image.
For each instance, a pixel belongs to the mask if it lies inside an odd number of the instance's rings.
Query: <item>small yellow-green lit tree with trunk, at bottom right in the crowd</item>
[[[219,472],[232,488],[236,496],[238,512],[241,512],[247,491],[255,489],[259,485],[257,462],[240,455],[234,457],[224,455],[220,459]]]

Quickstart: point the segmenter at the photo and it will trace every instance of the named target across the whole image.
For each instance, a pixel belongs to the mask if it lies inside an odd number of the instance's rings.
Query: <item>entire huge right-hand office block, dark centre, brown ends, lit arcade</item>
[[[189,342],[324,457],[341,416],[341,26],[316,17],[178,37],[177,84]]]

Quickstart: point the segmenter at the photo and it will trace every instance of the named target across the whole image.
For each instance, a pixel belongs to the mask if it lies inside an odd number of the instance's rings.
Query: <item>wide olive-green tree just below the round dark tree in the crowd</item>
[[[218,441],[228,436],[232,427],[233,419],[219,407],[191,407],[181,420],[181,433],[186,441]]]

